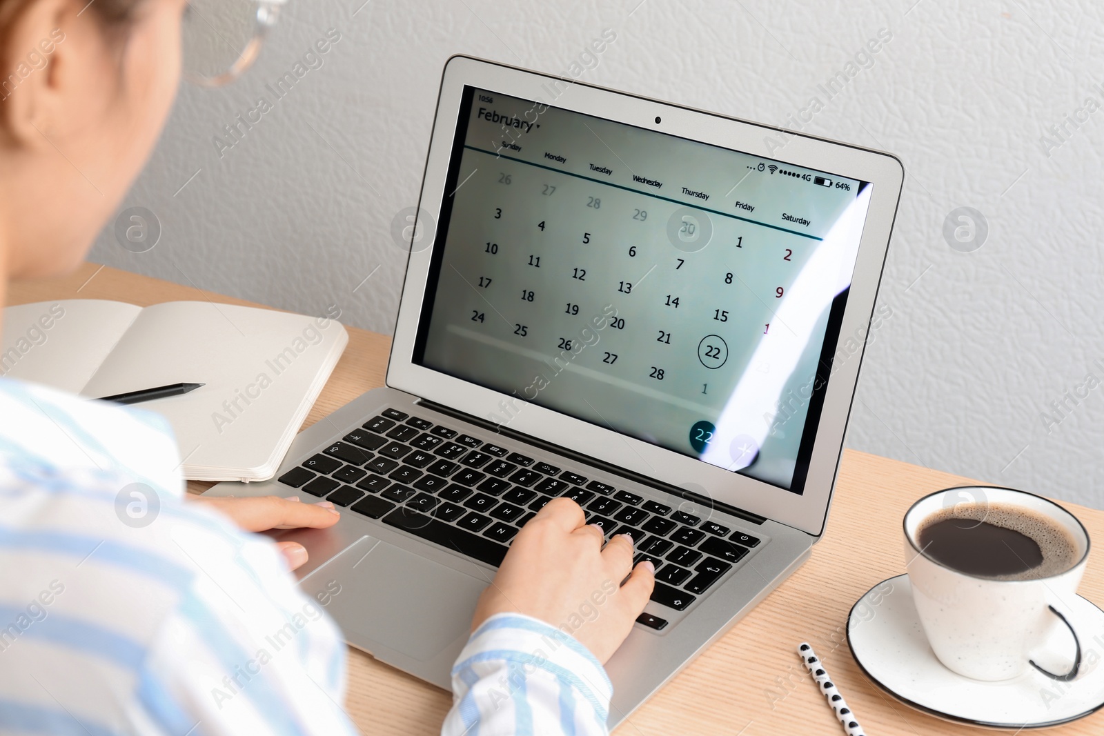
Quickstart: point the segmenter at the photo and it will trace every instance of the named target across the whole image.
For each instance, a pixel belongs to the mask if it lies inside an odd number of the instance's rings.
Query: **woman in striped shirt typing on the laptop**
[[[9,278],[79,264],[118,206],[172,104],[184,7],[0,0],[0,303]],[[338,510],[187,501],[179,467],[156,415],[0,380],[0,732],[355,732],[338,705],[344,644],[288,574],[306,551],[252,534]],[[444,733],[605,732],[599,662],[654,570],[633,569],[631,540],[602,540],[566,499],[521,531]],[[573,638],[554,628],[569,621]]]

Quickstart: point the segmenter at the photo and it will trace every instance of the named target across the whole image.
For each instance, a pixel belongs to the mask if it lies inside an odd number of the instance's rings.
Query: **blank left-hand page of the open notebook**
[[[0,375],[81,393],[141,307],[61,299],[3,310]]]

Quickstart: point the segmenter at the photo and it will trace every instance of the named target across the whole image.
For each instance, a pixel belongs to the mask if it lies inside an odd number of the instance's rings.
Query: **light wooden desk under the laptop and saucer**
[[[9,303],[74,298],[142,306],[179,299],[248,303],[95,264],[86,264],[64,279],[12,285],[9,292]],[[390,346],[385,335],[350,328],[349,346],[304,426],[383,385]],[[917,713],[883,694],[859,671],[843,638],[848,611],[859,596],[904,572],[900,530],[909,505],[931,491],[968,482],[958,476],[848,450],[828,531],[811,559],[645,703],[617,733],[838,736],[842,729],[794,652],[803,640],[822,657],[871,736],[981,733]],[[190,482],[189,490],[199,492],[209,486]],[[1094,538],[1104,540],[1104,512],[1063,505],[1084,522]],[[1095,553],[1081,594],[1097,604],[1104,602],[1102,573],[1101,555]],[[350,649],[347,708],[365,734],[437,733],[450,704],[448,693]],[[1102,730],[1104,713],[1097,713],[1048,733],[1087,736]]]

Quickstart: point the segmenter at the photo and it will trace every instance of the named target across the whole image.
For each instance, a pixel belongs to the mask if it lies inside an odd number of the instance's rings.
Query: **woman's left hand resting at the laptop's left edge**
[[[246,532],[266,532],[270,529],[326,529],[338,523],[341,518],[329,501],[302,503],[299,497],[289,495],[282,499],[277,495],[255,498],[215,498],[201,495],[192,503],[201,503],[214,509]],[[277,542],[289,569],[307,562],[307,548],[298,542]]]

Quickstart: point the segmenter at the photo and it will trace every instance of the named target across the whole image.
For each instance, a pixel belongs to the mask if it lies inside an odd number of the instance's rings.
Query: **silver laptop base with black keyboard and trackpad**
[[[526,449],[518,440],[500,439],[475,425],[464,427],[455,417],[420,405],[417,397],[384,387],[362,394],[300,433],[276,478],[388,407],[454,426],[486,441]],[[559,466],[590,472],[576,461],[550,457],[544,449],[526,451],[555,460]],[[618,482],[617,488],[666,499],[673,506],[682,502],[637,482]],[[288,488],[275,479],[259,483],[220,483],[205,494],[288,495],[291,492],[298,492],[305,502],[317,501],[310,493]],[[752,526],[743,520],[713,512],[711,521],[747,527],[763,542],[684,611],[673,611],[655,601],[648,604],[646,612],[668,623],[659,631],[640,623],[634,626],[628,639],[606,663],[614,684],[611,728],[773,591],[809,556],[816,538],[769,520]],[[493,566],[349,509],[343,510],[341,521],[328,530],[286,530],[269,535],[294,540],[307,547],[310,558],[296,575],[304,590],[330,611],[349,644],[439,687],[450,687],[449,671],[467,641],[476,600],[493,578]],[[335,590],[340,593],[335,594]]]

